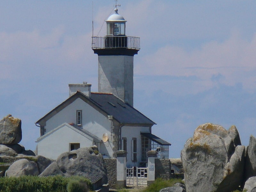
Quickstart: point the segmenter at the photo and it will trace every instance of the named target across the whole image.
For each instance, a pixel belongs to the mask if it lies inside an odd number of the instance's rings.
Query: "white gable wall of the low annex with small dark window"
[[[90,147],[93,145],[93,139],[81,135],[64,124],[38,141],[37,154],[57,159],[60,154],[69,151],[69,143],[80,143],[80,148]]]

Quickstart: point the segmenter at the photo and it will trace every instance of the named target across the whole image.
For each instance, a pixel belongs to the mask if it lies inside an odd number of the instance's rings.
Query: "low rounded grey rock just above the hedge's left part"
[[[27,159],[20,159],[11,164],[5,171],[5,177],[19,177],[23,175],[39,175],[37,164]]]

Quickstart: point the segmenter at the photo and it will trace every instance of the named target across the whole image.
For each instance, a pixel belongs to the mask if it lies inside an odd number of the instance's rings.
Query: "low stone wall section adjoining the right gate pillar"
[[[155,159],[155,179],[162,178],[169,180],[171,178],[171,161],[170,159]]]

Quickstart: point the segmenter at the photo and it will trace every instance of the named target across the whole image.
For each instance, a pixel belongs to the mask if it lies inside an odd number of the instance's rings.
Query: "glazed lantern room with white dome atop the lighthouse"
[[[106,20],[107,23],[107,36],[125,36],[125,23],[124,17],[117,13],[110,15]]]

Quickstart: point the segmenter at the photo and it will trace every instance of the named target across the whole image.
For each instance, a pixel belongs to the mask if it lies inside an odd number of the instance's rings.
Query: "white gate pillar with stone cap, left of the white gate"
[[[116,151],[116,186],[126,186],[126,151]]]

